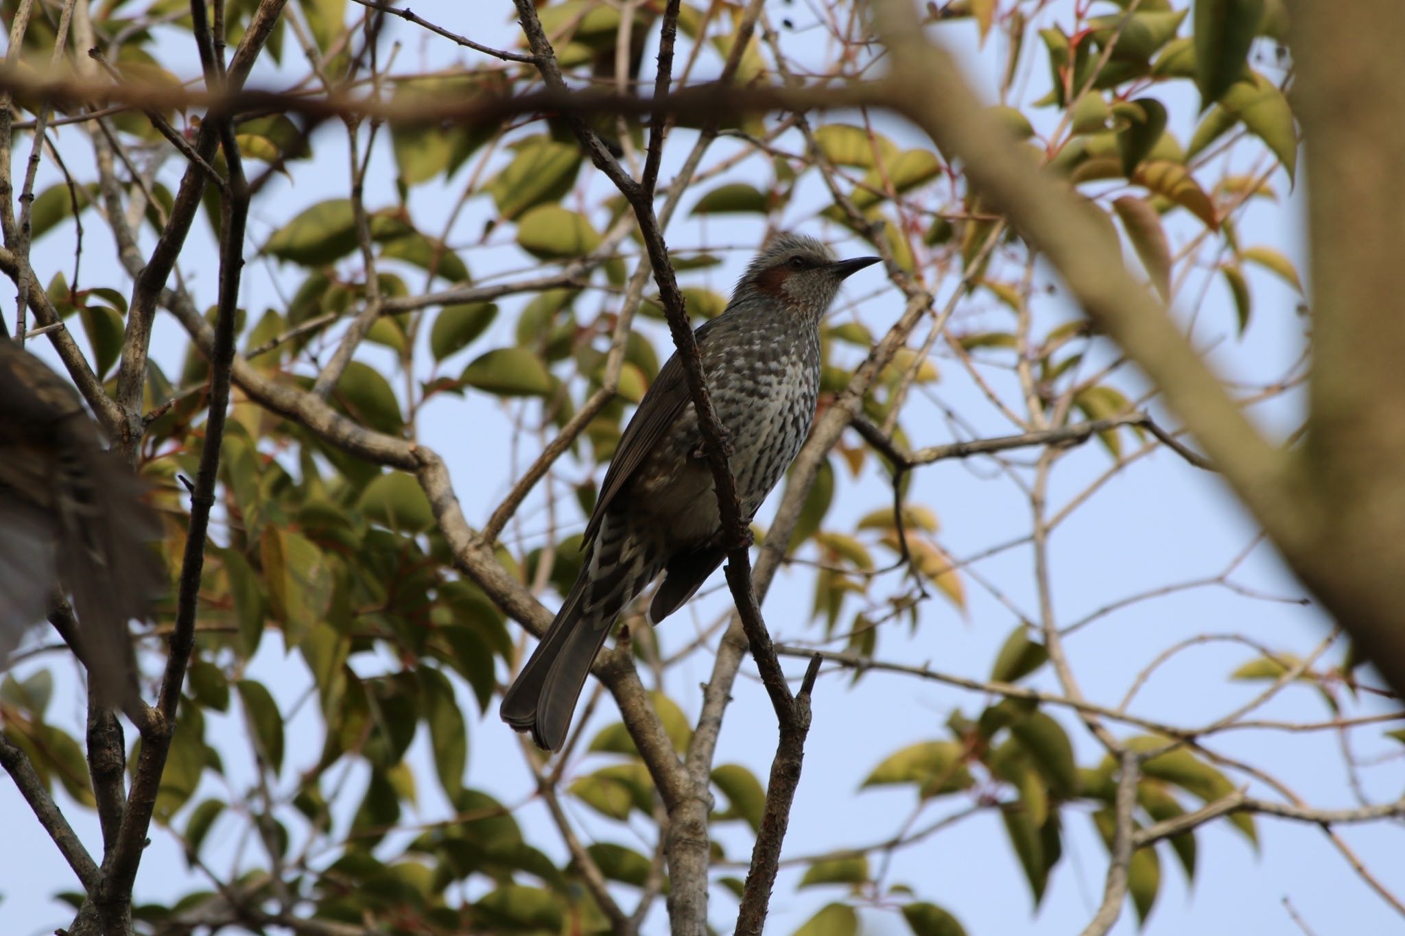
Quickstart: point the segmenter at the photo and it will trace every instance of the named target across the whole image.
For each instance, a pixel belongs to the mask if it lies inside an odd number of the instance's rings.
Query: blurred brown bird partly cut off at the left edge
[[[66,592],[98,696],[135,697],[128,622],[166,584],[146,544],[160,525],[145,490],[77,392],[0,333],[0,669]]]

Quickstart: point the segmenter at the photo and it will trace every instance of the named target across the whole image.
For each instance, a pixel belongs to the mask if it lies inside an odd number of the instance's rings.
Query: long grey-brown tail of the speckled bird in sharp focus
[[[620,610],[659,574],[658,550],[614,526],[601,526],[590,561],[503,695],[503,721],[517,731],[531,731],[537,747],[547,751],[565,742],[586,674]]]

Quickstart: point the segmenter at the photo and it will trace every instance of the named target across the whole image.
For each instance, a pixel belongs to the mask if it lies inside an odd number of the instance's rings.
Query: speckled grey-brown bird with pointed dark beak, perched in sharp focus
[[[813,237],[778,234],[717,319],[697,330],[712,406],[732,446],[742,516],[756,515],[809,434],[819,396],[819,323],[839,283],[877,257],[836,261]],[[659,623],[722,564],[712,473],[677,355],[639,401],[584,535],[576,585],[503,696],[503,721],[555,751],[620,610],[660,571]]]

